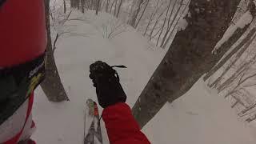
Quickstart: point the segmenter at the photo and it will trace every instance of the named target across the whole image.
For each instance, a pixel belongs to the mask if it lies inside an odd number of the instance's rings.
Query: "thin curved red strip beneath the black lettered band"
[[[31,95],[30,95],[30,99],[29,99],[29,105],[28,105],[27,112],[26,112],[26,120],[25,120],[25,122],[24,122],[24,124],[23,124],[22,130],[21,130],[18,134],[16,134],[16,135],[14,136],[14,138],[11,138],[11,139],[8,140],[7,142],[4,142],[4,144],[16,144],[16,143],[18,143],[18,140],[19,140],[19,138],[20,138],[21,135],[22,135],[22,132],[23,132],[23,130],[24,130],[24,127],[26,126],[26,122],[27,122],[28,118],[30,117],[31,110],[32,110],[32,106],[33,106],[33,102],[34,102],[34,94],[31,94]],[[34,142],[34,141],[33,141],[33,142]],[[34,142],[34,143],[31,143],[31,144],[35,144],[35,142]]]

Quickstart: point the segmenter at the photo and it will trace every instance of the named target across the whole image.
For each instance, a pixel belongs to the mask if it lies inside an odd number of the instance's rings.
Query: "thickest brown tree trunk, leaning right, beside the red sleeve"
[[[212,61],[215,58],[219,60],[219,55],[211,54],[220,40],[216,35],[224,34],[238,3],[239,0],[191,0],[186,30],[178,31],[166,56],[133,107],[134,118],[141,127],[167,101],[173,102],[190,90],[202,74],[214,66]],[[203,14],[197,12],[198,8],[204,10]]]

